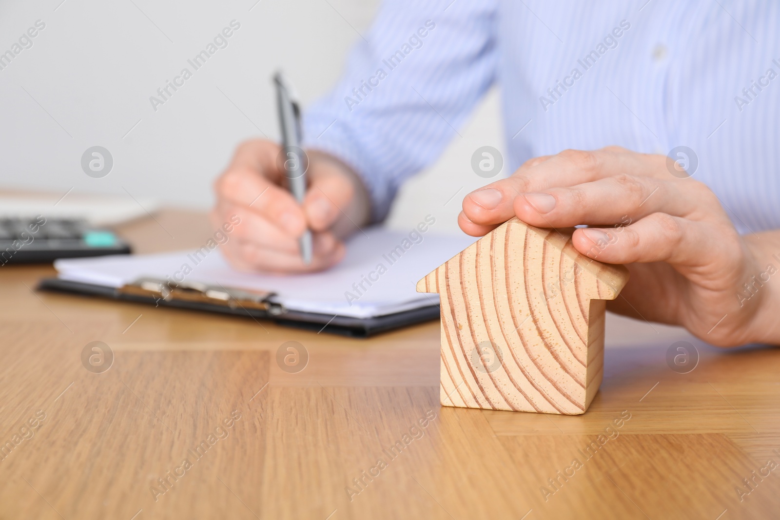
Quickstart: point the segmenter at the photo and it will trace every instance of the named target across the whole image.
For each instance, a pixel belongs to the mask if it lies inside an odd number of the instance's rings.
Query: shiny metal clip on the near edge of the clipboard
[[[138,278],[132,284],[122,285],[117,292],[124,295],[154,298],[155,306],[165,302],[186,301],[226,306],[231,309],[263,310],[273,316],[286,312],[284,306],[271,302],[275,292],[248,291],[224,285],[207,285],[197,281],[167,281],[159,278]]]

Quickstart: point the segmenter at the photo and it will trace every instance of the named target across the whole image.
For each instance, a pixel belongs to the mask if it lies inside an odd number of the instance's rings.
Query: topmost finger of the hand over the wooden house
[[[658,164],[647,157],[650,156],[618,147],[596,151],[564,150],[551,157],[537,157],[523,164],[512,177],[492,182],[467,195],[463,200],[463,213],[477,225],[500,224],[515,216],[513,202],[521,193],[576,186],[624,172],[652,175]]]

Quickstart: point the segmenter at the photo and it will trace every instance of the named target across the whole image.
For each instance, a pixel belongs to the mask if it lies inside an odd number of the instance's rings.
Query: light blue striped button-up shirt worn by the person
[[[385,2],[305,115],[307,146],[363,176],[375,220],[498,83],[505,173],[566,148],[690,147],[740,232],[780,228],[778,2],[450,2]]]

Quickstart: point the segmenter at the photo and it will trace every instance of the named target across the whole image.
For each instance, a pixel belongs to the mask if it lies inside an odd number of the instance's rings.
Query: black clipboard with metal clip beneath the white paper
[[[400,327],[438,320],[440,313],[438,305],[422,306],[413,310],[367,318],[310,313],[289,310],[285,306],[273,302],[274,292],[248,291],[241,288],[206,285],[197,282],[174,285],[156,278],[139,278],[137,281],[119,288],[61,278],[44,278],[39,282],[37,289],[99,296],[107,299],[207,313],[229,314],[249,317],[256,321],[270,320],[285,327],[327,332],[351,338],[368,338],[374,334],[392,331]]]

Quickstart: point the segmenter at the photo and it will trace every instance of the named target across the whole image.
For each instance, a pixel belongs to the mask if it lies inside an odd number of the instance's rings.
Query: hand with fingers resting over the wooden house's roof
[[[780,230],[739,235],[711,189],[664,155],[607,147],[535,157],[467,195],[458,223],[480,236],[514,216],[588,225],[575,248],[631,272],[608,310],[681,325],[712,345],[780,344]]]

